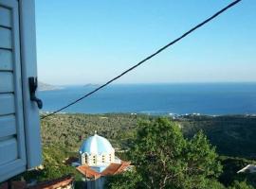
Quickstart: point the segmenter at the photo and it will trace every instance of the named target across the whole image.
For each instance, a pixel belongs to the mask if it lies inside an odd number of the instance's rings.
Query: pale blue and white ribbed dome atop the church
[[[95,133],[94,136],[90,136],[85,141],[83,141],[79,152],[81,154],[110,154],[115,152],[115,149],[107,139]]]

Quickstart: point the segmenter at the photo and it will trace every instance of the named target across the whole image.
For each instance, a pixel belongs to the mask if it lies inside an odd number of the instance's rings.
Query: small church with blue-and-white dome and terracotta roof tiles
[[[82,142],[77,170],[82,173],[86,188],[101,189],[105,176],[116,175],[129,168],[130,162],[121,161],[115,155],[115,148],[97,131]]]

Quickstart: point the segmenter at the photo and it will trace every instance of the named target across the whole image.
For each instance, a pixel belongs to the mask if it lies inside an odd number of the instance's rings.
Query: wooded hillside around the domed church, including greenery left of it
[[[82,175],[65,161],[69,157],[78,157],[78,149],[87,136],[97,130],[100,135],[110,140],[121,160],[129,161],[127,153],[122,149],[134,146],[137,123],[141,120],[150,122],[155,118],[156,116],[135,114],[57,114],[48,117],[41,125],[45,168],[28,171],[14,180],[52,180],[71,174],[75,177],[76,188],[82,188]],[[256,134],[255,117],[190,115],[180,116],[173,121],[180,125],[188,138],[198,130],[204,130],[210,143],[216,146],[221,155],[218,158],[223,165],[223,172],[218,178],[220,183],[229,189],[237,188],[230,187],[235,180],[241,181],[242,185],[250,184],[251,188],[256,187],[255,174],[237,174],[237,171],[248,163],[256,163],[256,144],[253,137]],[[247,181],[243,182],[244,180]]]

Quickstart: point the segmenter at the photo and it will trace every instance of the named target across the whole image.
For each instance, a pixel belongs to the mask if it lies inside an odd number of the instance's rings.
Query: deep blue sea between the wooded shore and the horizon
[[[97,86],[41,91],[43,112],[53,112]],[[256,83],[113,84],[63,112],[209,115],[255,114]]]

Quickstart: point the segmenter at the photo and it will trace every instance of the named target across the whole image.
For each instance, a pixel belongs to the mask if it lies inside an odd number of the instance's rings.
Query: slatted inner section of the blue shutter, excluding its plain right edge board
[[[0,0],[0,181],[26,170],[18,1]]]

